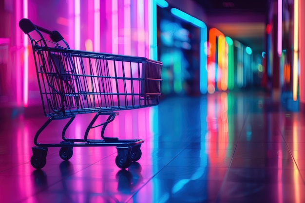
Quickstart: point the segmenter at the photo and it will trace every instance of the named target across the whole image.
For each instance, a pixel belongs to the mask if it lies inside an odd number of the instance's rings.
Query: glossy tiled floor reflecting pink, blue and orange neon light
[[[81,137],[92,116],[79,115],[67,133]],[[127,170],[115,165],[115,147],[74,148],[69,161],[49,148],[46,166],[35,170],[33,137],[46,119],[0,124],[1,203],[305,202],[305,117],[263,93],[167,98],[120,111],[106,134],[145,139]],[[62,127],[55,121],[38,141],[59,142]]]

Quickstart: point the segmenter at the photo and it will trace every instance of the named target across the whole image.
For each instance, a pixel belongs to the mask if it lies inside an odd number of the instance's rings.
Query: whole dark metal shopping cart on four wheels
[[[50,117],[38,129],[32,148],[31,164],[46,164],[49,147],[60,147],[59,156],[69,160],[73,147],[115,146],[115,164],[127,168],[140,159],[143,139],[122,140],[105,137],[106,126],[121,110],[155,106],[159,103],[162,63],[144,57],[71,50],[57,31],[49,31],[29,19],[19,27],[30,38],[44,113]],[[65,133],[77,114],[95,113],[83,139],[66,138]],[[100,115],[105,122],[95,125]],[[69,119],[60,143],[38,143],[39,134],[53,120]],[[100,139],[89,139],[91,129],[101,128]]]

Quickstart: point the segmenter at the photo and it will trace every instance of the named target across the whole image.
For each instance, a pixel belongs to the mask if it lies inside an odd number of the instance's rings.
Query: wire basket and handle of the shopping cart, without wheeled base
[[[19,26],[32,43],[46,116],[137,109],[159,103],[161,62],[71,50],[57,31],[41,28],[29,19],[21,19]]]

